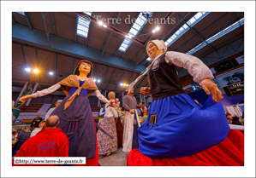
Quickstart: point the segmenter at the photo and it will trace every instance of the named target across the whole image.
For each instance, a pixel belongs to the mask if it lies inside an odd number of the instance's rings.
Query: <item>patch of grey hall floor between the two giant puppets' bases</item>
[[[101,166],[126,166],[129,152],[122,152],[122,146],[109,156],[98,155],[98,164]]]

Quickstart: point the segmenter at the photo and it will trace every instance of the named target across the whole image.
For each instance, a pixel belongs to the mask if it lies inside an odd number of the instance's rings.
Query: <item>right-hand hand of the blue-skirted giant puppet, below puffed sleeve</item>
[[[223,100],[223,95],[220,90],[217,89],[217,84],[211,82],[210,79],[204,79],[199,84],[203,87],[207,95],[212,95],[212,100],[216,102]]]

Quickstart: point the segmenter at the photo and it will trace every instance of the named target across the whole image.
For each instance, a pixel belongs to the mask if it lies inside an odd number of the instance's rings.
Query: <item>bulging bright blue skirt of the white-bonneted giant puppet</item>
[[[222,102],[199,96],[201,106],[186,94],[154,100],[138,129],[139,151],[149,158],[181,158],[224,141],[229,124]]]

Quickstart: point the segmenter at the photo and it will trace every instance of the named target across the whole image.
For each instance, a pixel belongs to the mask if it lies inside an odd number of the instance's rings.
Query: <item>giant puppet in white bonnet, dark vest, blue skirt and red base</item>
[[[152,104],[138,129],[139,149],[129,152],[128,165],[244,165],[243,134],[229,129],[211,70],[192,55],[167,52],[163,40],[147,43],[146,52],[153,60],[146,69],[150,88],[140,93],[152,95]],[[193,96],[202,106],[185,94],[176,66],[187,69],[205,90],[205,95]]]

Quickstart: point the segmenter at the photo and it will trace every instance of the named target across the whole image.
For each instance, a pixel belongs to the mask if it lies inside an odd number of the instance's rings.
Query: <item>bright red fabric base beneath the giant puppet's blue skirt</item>
[[[148,158],[134,149],[128,154],[128,166],[243,166],[244,135],[229,130],[225,141],[202,152],[182,158]]]

